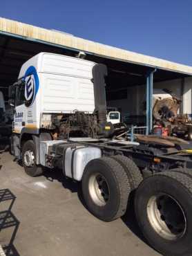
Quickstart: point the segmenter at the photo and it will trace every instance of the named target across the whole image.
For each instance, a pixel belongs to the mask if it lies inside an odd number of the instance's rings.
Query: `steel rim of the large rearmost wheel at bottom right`
[[[181,238],[186,232],[186,217],[180,203],[168,194],[151,196],[147,215],[158,235],[167,240]]]

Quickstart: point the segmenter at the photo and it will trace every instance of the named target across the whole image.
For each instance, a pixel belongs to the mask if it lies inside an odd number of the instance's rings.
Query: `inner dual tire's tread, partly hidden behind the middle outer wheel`
[[[131,191],[134,191],[137,189],[138,185],[143,180],[142,174],[140,172],[140,169],[135,165],[133,160],[126,156],[112,156],[122,167],[124,168],[127,176],[128,181],[131,185]]]

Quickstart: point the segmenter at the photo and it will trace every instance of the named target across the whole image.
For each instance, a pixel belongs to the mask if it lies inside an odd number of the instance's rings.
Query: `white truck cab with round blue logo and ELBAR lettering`
[[[15,93],[13,132],[28,129],[39,133],[48,128],[52,113],[72,113],[75,109],[93,113],[94,62],[53,53],[39,53],[21,67]]]

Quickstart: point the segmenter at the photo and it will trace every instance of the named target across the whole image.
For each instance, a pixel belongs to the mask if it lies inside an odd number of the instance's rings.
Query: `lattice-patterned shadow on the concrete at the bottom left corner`
[[[11,211],[15,200],[16,196],[12,194],[10,190],[0,190],[0,204],[2,205],[3,202],[6,203],[6,210],[0,211],[0,244],[3,247],[6,256],[19,256],[19,253],[14,246],[14,240],[19,228],[19,221]],[[3,232],[5,230],[6,237],[3,237],[2,233],[5,235],[5,232]]]

